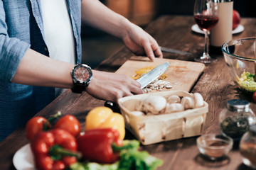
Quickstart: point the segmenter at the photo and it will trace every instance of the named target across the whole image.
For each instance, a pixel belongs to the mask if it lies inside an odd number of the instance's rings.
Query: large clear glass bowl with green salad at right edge
[[[228,72],[235,84],[252,94],[256,91],[256,38],[242,38],[225,42],[222,46]]]

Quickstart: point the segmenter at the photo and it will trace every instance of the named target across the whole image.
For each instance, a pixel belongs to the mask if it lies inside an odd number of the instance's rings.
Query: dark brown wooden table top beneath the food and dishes
[[[177,55],[164,53],[165,58],[193,61],[193,58],[201,55],[204,47],[204,37],[191,31],[191,26],[195,22],[192,16],[161,16],[149,24],[146,31],[150,33],[164,47],[172,47],[177,50],[191,52],[193,56]],[[242,18],[242,26],[245,30],[234,35],[233,39],[251,37],[256,35],[256,18]],[[115,72],[132,53],[123,47],[112,57],[104,60],[98,70]],[[256,104],[252,103],[250,96],[241,93],[231,81],[228,74],[228,68],[225,66],[223,55],[213,55],[218,58],[218,62],[206,64],[206,68],[193,86],[192,93],[199,92],[209,104],[209,112],[206,117],[206,123],[203,127],[203,133],[219,133],[218,114],[225,107],[225,103],[233,98],[242,98],[250,101],[252,110],[255,110]],[[73,94],[66,91],[65,94],[58,97],[37,115],[48,118],[50,115],[61,111],[63,114],[75,115],[82,125],[85,125],[85,115],[96,106],[103,106],[105,101],[92,98],[86,93]],[[127,139],[133,139],[134,136],[127,132]],[[181,140],[161,142],[155,145],[142,146],[141,149],[147,150],[151,155],[163,159],[164,164],[159,169],[247,169],[242,164],[242,159],[238,146],[234,146],[228,159],[220,162],[208,162],[196,147],[196,138],[189,137]],[[0,143],[0,167],[1,169],[15,169],[12,164],[12,158],[15,152],[26,145],[24,128],[13,132],[6,140]]]

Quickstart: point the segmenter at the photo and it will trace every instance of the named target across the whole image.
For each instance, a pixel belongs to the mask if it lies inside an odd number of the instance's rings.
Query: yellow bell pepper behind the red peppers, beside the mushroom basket
[[[124,118],[107,107],[93,108],[86,116],[85,131],[96,128],[113,128],[119,132],[119,138],[124,140]]]

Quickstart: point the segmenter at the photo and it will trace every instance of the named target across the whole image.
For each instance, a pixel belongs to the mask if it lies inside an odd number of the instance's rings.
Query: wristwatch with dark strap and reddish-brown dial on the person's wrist
[[[85,88],[90,84],[92,79],[92,69],[87,64],[76,64],[71,72],[73,79],[73,88],[71,89],[74,93],[82,93]]]

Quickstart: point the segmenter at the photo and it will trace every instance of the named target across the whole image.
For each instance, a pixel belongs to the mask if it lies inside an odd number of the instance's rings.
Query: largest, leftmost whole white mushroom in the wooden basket
[[[166,98],[162,96],[148,96],[142,100],[142,111],[152,114],[159,114],[166,106]]]

